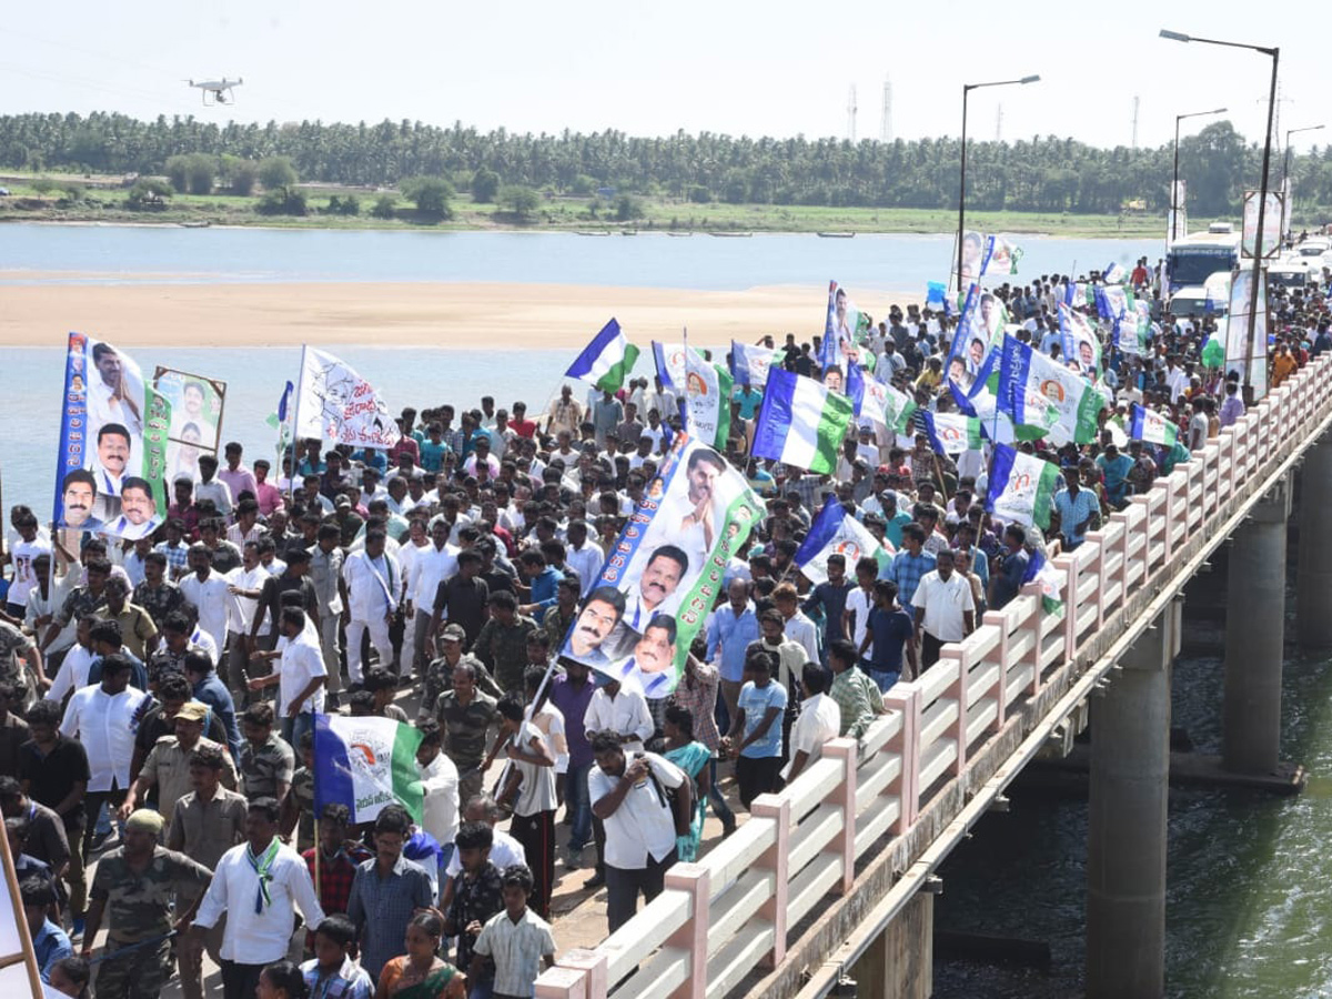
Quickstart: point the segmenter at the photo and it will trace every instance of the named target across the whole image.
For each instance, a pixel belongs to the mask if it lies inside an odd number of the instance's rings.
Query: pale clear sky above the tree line
[[[0,113],[119,111],[268,121],[461,120],[482,131],[719,132],[878,137],[883,83],[903,139],[956,136],[963,83],[1039,73],[972,95],[970,132],[1072,136],[1099,145],[1171,140],[1175,115],[1228,107],[1261,135],[1265,56],[1158,39],[1159,28],[1280,45],[1279,131],[1332,141],[1332,8],[1269,24],[1236,0],[1159,5],[1007,3],[426,4],[384,0],[145,0],[52,16],[12,5],[0,24]],[[1276,9],[1276,8],[1259,8]],[[1281,8],[1284,9],[1284,8]],[[242,76],[237,104],[202,108],[184,79]],[[1185,131],[1207,120],[1185,123]]]

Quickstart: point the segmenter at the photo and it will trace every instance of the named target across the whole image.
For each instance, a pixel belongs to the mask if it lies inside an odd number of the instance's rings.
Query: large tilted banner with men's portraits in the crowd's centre
[[[726,458],[677,434],[559,654],[666,697],[763,509]]]

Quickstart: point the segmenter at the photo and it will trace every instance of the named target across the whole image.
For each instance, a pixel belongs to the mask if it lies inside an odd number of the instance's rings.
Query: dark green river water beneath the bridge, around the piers
[[[1236,607],[1236,599],[1229,606]],[[1293,635],[1293,615],[1287,634]],[[1332,995],[1332,663],[1288,646],[1281,758],[1312,774],[1293,798],[1171,787],[1166,904],[1169,999]],[[1171,723],[1220,753],[1223,667],[1177,659]],[[936,999],[1064,999],[1082,994],[1086,959],[1087,801],[1015,793],[944,864],[935,924],[1046,940],[1048,972],[962,960],[935,964]]]

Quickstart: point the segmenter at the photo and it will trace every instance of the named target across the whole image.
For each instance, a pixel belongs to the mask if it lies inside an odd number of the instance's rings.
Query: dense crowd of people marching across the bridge
[[[1158,281],[1146,261],[1130,277],[1159,300]],[[1058,354],[1067,284],[992,293],[1019,340]],[[1332,336],[1321,294],[1271,305],[1280,384]],[[947,412],[954,332],[892,306],[854,349]],[[156,996],[173,974],[194,999],[206,954],[226,999],[533,995],[557,886],[590,866],[575,890],[605,887],[623,926],[705,848],[709,811],[730,832],[829,739],[863,735],[894,683],[1018,595],[1038,551],[1076,549],[1233,422],[1243,394],[1204,360],[1212,333],[1159,309],[1140,352],[1106,340],[1096,442],[1020,445],[1062,469],[1044,530],[987,511],[987,444],[936,453],[923,425],[852,425],[831,476],[758,460],[762,389],[737,388],[726,457],[766,518],[678,683],[651,695],[559,649],[598,626],[606,551],[679,429],[661,378],[586,400],[565,385],[537,418],[490,397],[408,409],[392,449],[305,441],[277,474],[228,444],[132,542],[53,537],[13,507],[0,809],[44,980],[84,995],[96,960],[99,999]],[[844,384],[818,338],[767,345]],[[1134,402],[1177,442],[1134,440]],[[795,558],[827,496],[891,555],[832,554],[813,585]],[[314,813],[313,719],[338,711],[418,730],[420,817]]]

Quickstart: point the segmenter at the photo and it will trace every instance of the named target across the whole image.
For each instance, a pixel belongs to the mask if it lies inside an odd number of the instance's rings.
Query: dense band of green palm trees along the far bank
[[[1160,213],[1168,205],[1172,156],[1169,144],[1135,151],[1054,136],[974,143],[967,153],[967,205]],[[172,174],[173,185],[188,190],[202,185],[197,174],[192,180],[190,157],[210,157],[218,182],[229,181],[237,193],[253,186],[260,164],[281,157],[306,181],[397,185],[436,177],[501,205],[505,194],[513,201],[522,188],[555,194],[614,188],[619,194],[697,202],[934,209],[956,206],[958,198],[958,140],[947,137],[851,144],[707,132],[659,139],[615,131],[484,133],[461,124],[438,128],[418,121],[217,125],[193,116],[155,121],[111,113],[0,117],[3,168],[166,174],[174,163],[185,172]],[[1228,121],[1180,143],[1188,209],[1197,217],[1236,214],[1243,190],[1256,186],[1260,168],[1260,147],[1245,141]],[[1275,156],[1273,182],[1280,170],[1281,157]],[[1300,206],[1332,206],[1332,145],[1293,157],[1291,173]],[[509,208],[522,213],[527,205],[518,198]]]

